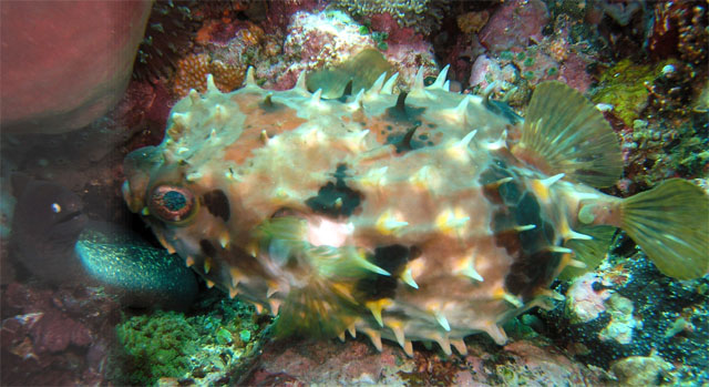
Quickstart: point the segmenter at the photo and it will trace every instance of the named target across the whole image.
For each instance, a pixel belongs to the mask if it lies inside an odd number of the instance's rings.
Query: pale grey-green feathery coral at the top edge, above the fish
[[[424,35],[436,31],[449,8],[448,0],[336,0],[333,3],[356,18],[388,13],[400,27],[413,28]]]

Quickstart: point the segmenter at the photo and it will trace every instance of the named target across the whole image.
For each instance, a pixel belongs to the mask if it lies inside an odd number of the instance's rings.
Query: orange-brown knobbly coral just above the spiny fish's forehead
[[[191,89],[204,92],[207,90],[207,74],[223,91],[232,91],[242,85],[246,72],[245,64],[229,64],[208,54],[192,54],[177,62],[177,71],[173,80],[173,93],[183,98]]]

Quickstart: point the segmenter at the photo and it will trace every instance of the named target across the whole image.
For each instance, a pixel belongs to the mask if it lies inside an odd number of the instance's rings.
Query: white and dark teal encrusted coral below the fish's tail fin
[[[563,308],[536,313],[558,346],[574,348],[577,360],[604,368],[631,356],[657,356],[676,366],[666,375],[675,383],[709,380],[709,360],[696,355],[708,350],[708,276],[690,282],[662,277],[624,234],[616,236],[607,261],[585,275],[597,278],[592,289],[612,295],[598,317],[574,324]],[[555,289],[572,297],[568,284]],[[608,339],[612,332],[615,338]],[[625,335],[630,333],[628,340]]]

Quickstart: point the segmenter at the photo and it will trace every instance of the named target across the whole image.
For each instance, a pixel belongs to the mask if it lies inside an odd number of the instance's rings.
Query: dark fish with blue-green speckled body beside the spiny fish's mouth
[[[52,285],[102,286],[131,307],[186,309],[196,297],[197,278],[176,256],[89,220],[81,197],[56,183],[12,177],[11,256],[29,274]]]

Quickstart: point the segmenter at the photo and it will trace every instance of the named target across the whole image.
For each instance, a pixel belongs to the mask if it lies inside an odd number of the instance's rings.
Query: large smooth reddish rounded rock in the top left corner
[[[3,132],[83,128],[125,90],[151,1],[2,2]]]

